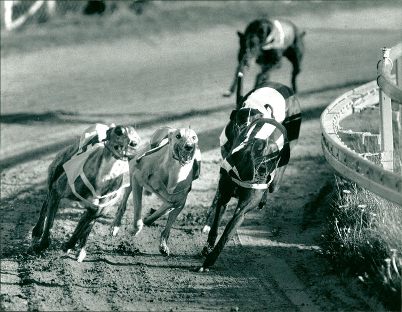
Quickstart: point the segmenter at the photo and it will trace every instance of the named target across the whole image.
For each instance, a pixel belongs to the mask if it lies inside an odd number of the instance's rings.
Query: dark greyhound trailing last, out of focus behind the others
[[[303,37],[306,32],[299,32],[297,27],[289,21],[256,20],[251,22],[244,34],[237,32],[240,38],[238,54],[239,65],[236,69],[235,79],[224,96],[230,96],[235,91],[238,73],[244,73],[251,60],[261,67],[256,77],[255,86],[262,80],[269,80],[269,70],[280,67],[282,56],[285,56],[293,66],[292,88],[296,93],[296,76],[300,72],[300,63],[304,54]]]

